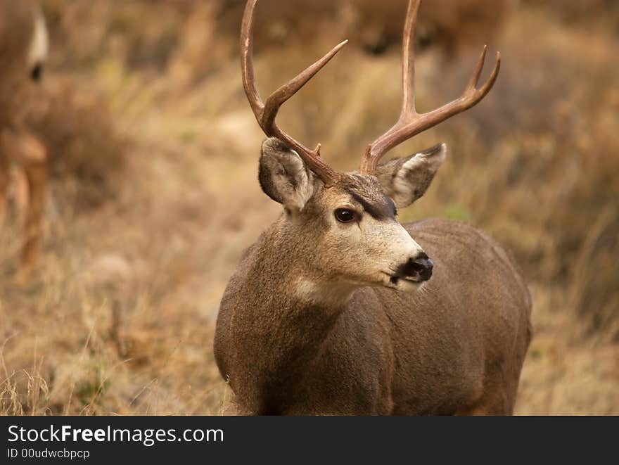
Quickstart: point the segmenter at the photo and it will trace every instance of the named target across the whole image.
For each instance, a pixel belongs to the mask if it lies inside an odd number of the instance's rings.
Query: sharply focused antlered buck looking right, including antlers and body
[[[222,298],[215,359],[241,414],[511,414],[531,337],[531,300],[507,253],[464,223],[397,222],[428,189],[444,144],[386,163],[391,148],[478,103],[485,48],[464,93],[417,113],[414,30],[404,25],[400,119],[358,172],[334,170],[276,114],[345,44],[262,101],[252,59],[257,0],[241,30],[243,86],[268,139],[260,185],[283,205]]]

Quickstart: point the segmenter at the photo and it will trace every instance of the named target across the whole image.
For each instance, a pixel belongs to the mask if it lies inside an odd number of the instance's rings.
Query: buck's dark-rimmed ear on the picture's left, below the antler
[[[258,179],[262,191],[289,210],[302,210],[314,191],[314,174],[276,137],[262,143]]]

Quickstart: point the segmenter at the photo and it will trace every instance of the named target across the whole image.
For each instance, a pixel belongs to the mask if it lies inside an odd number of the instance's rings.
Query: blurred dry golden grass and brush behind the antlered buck
[[[219,299],[281,209],[257,183],[244,2],[41,4],[51,57],[30,125],[51,194],[25,284],[19,222],[0,230],[0,413],[220,414]],[[339,169],[399,113],[406,4],[257,6],[263,95],[350,39],[279,117]],[[516,413],[619,414],[619,2],[426,0],[417,42],[420,110],[459,95],[484,43],[503,65],[479,106],[391,153],[449,146],[400,220],[470,222],[521,265],[535,336]]]

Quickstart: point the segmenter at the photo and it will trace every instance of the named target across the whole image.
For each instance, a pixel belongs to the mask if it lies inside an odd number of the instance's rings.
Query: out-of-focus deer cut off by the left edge
[[[5,216],[11,172],[27,181],[21,276],[32,270],[41,248],[47,153],[27,128],[33,82],[40,79],[48,49],[41,10],[32,1],[0,1],[0,224]],[[15,170],[11,170],[14,167]]]

